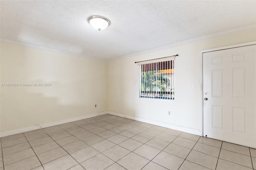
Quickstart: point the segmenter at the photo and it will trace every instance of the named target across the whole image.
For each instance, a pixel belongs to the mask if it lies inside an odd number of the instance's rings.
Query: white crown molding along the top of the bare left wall
[[[90,57],[90,56],[87,56],[87,55],[81,55],[81,54],[78,54],[78,53],[72,53],[72,52],[68,52],[68,51],[63,51],[63,50],[43,47],[43,46],[39,46],[39,45],[33,45],[33,44],[30,44],[30,43],[24,43],[24,42],[17,42],[17,41],[13,41],[13,40],[7,40],[7,39],[4,39],[4,38],[1,38],[0,41],[3,42],[3,43],[10,43],[10,44],[15,44],[15,45],[21,45],[21,46],[24,46],[24,47],[32,47],[32,48],[42,49],[42,50],[46,50],[46,51],[52,51],[52,52],[57,52],[57,53],[62,53],[62,54],[67,54],[67,55],[74,55],[74,56],[77,56],[77,57],[84,57],[84,58],[88,58],[88,59],[107,61],[106,59]]]

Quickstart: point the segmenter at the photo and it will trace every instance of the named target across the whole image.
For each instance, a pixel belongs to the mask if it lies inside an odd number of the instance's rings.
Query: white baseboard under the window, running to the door
[[[173,125],[173,124],[170,124],[170,123],[164,123],[164,122],[155,121],[155,120],[151,120],[151,119],[146,119],[146,118],[142,118],[142,117],[125,115],[125,114],[122,114],[122,113],[117,113],[117,112],[112,112],[112,111],[107,111],[107,112],[110,115],[120,116],[120,117],[124,117],[124,118],[128,118],[128,119],[132,119],[132,120],[135,120],[135,121],[141,121],[141,122],[144,122],[144,123],[150,123],[152,125],[171,128],[171,129],[174,129],[174,130],[180,130],[182,132],[187,132],[187,133],[203,136],[203,131],[199,130],[199,129],[183,127],[183,126],[179,126],[179,125]]]

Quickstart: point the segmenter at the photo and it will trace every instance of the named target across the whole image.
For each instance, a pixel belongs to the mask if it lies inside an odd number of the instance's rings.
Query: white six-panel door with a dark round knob
[[[256,45],[203,53],[203,135],[256,148]]]

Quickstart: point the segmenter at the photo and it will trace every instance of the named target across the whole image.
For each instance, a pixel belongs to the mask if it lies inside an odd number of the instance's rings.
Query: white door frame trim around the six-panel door
[[[203,136],[203,134],[204,134],[204,121],[203,121],[203,119],[204,119],[204,109],[203,109],[203,107],[204,107],[204,104],[203,104],[203,102],[204,102],[204,99],[203,99],[203,95],[204,95],[204,89],[203,89],[203,87],[204,87],[204,81],[203,81],[203,67],[204,67],[204,65],[203,65],[203,55],[204,55],[204,53],[208,53],[208,52],[212,52],[212,51],[219,51],[219,50],[224,50],[224,49],[231,49],[231,48],[237,48],[237,47],[244,47],[244,46],[248,46],[248,45],[256,45],[256,41],[253,41],[253,42],[246,42],[246,43],[239,43],[239,44],[234,44],[234,45],[228,45],[228,46],[224,46],[224,47],[217,47],[217,48],[211,48],[211,49],[204,49],[204,50],[201,50],[200,51],[200,62],[201,62],[201,64],[202,64],[202,67],[201,67],[201,74],[200,74],[200,84],[201,84],[201,94],[200,94],[200,97],[201,97],[201,102],[200,102],[200,107],[201,107],[201,109],[202,109],[202,111],[201,111],[201,118],[200,118],[200,120],[201,120],[201,136]]]

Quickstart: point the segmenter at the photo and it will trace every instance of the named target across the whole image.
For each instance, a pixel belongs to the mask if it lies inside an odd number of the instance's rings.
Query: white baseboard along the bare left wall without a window
[[[42,125],[34,125],[34,126],[31,126],[31,127],[24,127],[24,128],[18,128],[18,129],[6,131],[6,132],[0,132],[0,137],[10,136],[10,135],[13,135],[13,134],[18,134],[18,133],[23,133],[23,132],[28,132],[28,131],[31,131],[31,130],[37,130],[37,129],[40,129],[40,128],[52,127],[52,126],[60,125],[60,124],[63,124],[63,123],[79,121],[79,120],[87,119],[87,118],[90,118],[90,117],[105,115],[107,113],[108,113],[107,111],[104,111],[104,112],[94,113],[94,114],[90,114],[90,115],[85,115],[85,116],[82,116],[82,117],[74,117],[74,118],[71,118],[71,119],[66,119],[66,120],[62,120],[62,121],[58,121],[58,122],[44,123]]]

